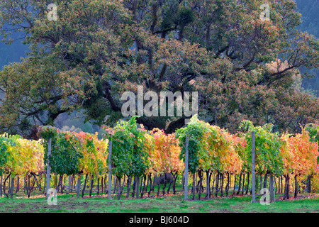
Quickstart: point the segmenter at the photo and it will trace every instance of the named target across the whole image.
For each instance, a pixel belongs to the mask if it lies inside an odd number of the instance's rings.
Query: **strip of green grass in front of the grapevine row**
[[[0,199],[0,213],[32,212],[32,213],[228,213],[228,212],[319,212],[319,197],[313,199],[297,199],[276,201],[270,205],[251,204],[250,196],[215,198],[211,200],[183,201],[184,196],[166,196],[150,199],[113,200],[107,197],[74,199],[71,195],[59,195],[57,206],[49,206],[45,198],[37,199]],[[257,201],[259,201],[257,199]]]

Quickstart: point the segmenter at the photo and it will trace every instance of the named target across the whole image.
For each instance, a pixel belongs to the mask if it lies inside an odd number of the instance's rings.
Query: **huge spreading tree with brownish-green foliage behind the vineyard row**
[[[300,131],[319,101],[296,90],[294,76],[319,66],[319,42],[298,31],[295,1],[266,2],[270,21],[248,0],[56,1],[58,20],[48,21],[48,1],[2,1],[1,33],[26,33],[30,54],[0,72],[1,130],[52,124],[74,109],[109,125],[122,118],[121,94],[144,85],[198,91],[199,115],[230,132],[244,118]],[[171,133],[184,118],[137,121]]]

